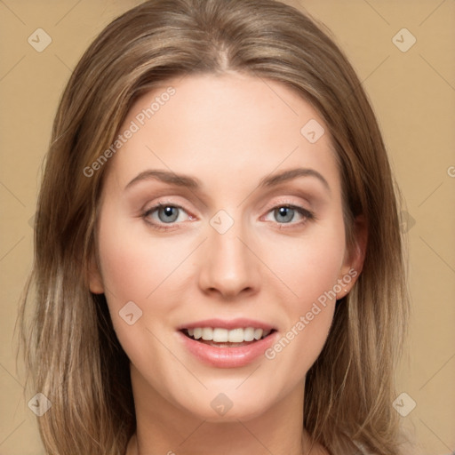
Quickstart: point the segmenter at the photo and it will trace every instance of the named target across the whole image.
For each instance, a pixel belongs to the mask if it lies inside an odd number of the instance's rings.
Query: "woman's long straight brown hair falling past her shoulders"
[[[52,455],[124,454],[136,424],[128,358],[104,295],[92,294],[87,280],[109,163],[90,176],[84,169],[110,147],[142,94],[171,77],[227,70],[278,81],[311,103],[336,150],[347,243],[355,243],[357,215],[369,232],[363,271],[339,300],[307,373],[305,427],[337,455],[355,453],[353,441],[379,455],[400,453],[392,402],[407,315],[402,240],[386,149],[362,84],[321,26],[291,6],[150,0],[90,45],[53,124],[21,307],[29,379],[52,403],[38,419]]]

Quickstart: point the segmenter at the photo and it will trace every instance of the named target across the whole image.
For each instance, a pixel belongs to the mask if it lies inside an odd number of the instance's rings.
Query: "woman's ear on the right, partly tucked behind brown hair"
[[[354,221],[354,245],[347,248],[343,265],[339,270],[338,283],[341,290],[337,292],[337,300],[345,297],[353,288],[363,269],[366,246],[368,242],[368,229],[363,215]]]

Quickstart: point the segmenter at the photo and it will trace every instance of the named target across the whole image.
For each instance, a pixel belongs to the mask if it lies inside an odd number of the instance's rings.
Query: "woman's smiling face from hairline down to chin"
[[[140,98],[120,132],[91,290],[136,397],[210,420],[301,403],[357,275],[320,116],[273,81],[186,76]]]

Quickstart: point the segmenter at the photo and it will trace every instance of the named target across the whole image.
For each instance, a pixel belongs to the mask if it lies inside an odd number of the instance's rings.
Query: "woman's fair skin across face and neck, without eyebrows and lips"
[[[137,100],[120,130],[169,85],[175,95],[108,163],[100,269],[93,266],[90,279],[92,292],[106,294],[131,359],[138,426],[127,455],[328,453],[302,430],[302,411],[305,376],[327,338],[335,299],[273,360],[260,355],[243,367],[201,363],[177,331],[212,317],[249,317],[275,325],[279,338],[351,268],[360,272],[363,248],[347,251],[345,243],[328,129],[283,85],[228,73],[166,82]],[[326,131],[315,143],[300,133],[310,119]],[[312,176],[258,188],[271,173],[298,167],[319,172],[329,189]],[[202,188],[149,179],[125,189],[149,169],[193,176]],[[157,202],[183,210],[174,209],[179,217],[167,224],[163,212],[143,216]],[[315,219],[276,213],[283,204]],[[220,210],[234,220],[224,234],[210,224]],[[128,301],[142,310],[132,325],[119,316]],[[211,406],[220,393],[233,403],[224,416]]]

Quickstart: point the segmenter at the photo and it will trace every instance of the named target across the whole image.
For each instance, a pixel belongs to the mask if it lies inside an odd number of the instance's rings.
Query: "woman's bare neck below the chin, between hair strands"
[[[304,385],[256,416],[197,417],[166,400],[132,367],[137,427],[126,455],[323,455],[303,428]],[[235,403],[234,403],[235,406]],[[233,409],[234,409],[233,406]]]

